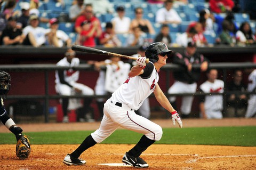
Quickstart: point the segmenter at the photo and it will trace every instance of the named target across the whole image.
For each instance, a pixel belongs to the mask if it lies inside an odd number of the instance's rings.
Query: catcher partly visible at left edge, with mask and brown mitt
[[[17,145],[16,145],[16,155],[20,159],[26,159],[30,153],[30,143],[28,137],[22,134],[22,129],[19,126],[16,126],[13,120],[7,115],[7,112],[4,108],[3,98],[6,99],[6,94],[9,92],[11,76],[0,70],[0,120],[1,122],[16,136]]]

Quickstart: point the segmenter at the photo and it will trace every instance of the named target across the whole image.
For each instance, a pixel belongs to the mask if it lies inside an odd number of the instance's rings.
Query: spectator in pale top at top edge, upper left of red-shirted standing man
[[[79,16],[85,15],[84,8],[84,0],[76,0],[76,3],[73,4],[68,11],[69,20],[75,22]]]

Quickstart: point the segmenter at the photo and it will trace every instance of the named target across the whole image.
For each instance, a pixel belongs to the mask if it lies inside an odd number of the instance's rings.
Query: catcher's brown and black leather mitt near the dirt
[[[26,135],[22,135],[21,138],[17,141],[16,145],[16,155],[20,159],[28,158],[30,153],[30,143]]]

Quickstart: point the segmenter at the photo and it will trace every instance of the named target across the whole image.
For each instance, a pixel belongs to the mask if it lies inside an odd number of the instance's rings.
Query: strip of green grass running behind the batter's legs
[[[93,131],[29,132],[31,144],[80,144]],[[142,134],[118,129],[102,143],[135,144]],[[0,144],[15,144],[12,133],[0,133]],[[157,144],[256,146],[256,126],[164,128]]]

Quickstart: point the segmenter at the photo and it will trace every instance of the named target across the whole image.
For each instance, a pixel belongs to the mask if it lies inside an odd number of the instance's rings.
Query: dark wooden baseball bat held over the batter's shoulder
[[[85,53],[108,55],[108,56],[118,56],[118,57],[125,58],[125,59],[137,60],[137,58],[135,58],[133,56],[111,53],[108,51],[98,50],[96,48],[86,47],[86,46],[82,46],[82,45],[73,44],[71,46],[71,49],[74,51],[81,51],[81,52],[85,52]],[[146,63],[148,63],[148,62],[149,62],[149,59],[146,59]]]

